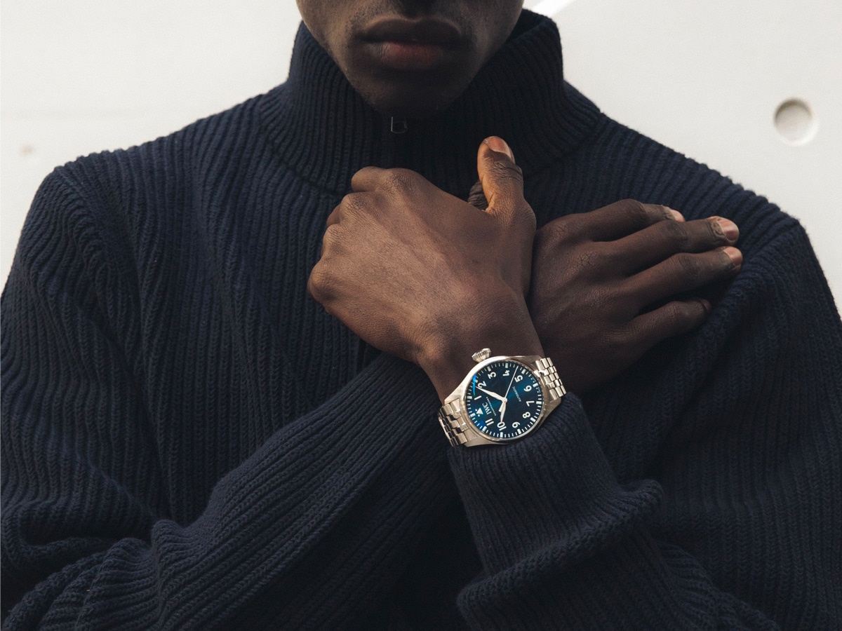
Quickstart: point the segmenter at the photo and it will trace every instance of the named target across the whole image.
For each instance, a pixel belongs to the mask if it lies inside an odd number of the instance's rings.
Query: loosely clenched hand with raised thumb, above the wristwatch
[[[417,363],[444,398],[483,347],[543,354],[525,294],[536,220],[520,169],[484,141],[482,211],[405,169],[366,167],[328,218],[308,289],[370,345]]]

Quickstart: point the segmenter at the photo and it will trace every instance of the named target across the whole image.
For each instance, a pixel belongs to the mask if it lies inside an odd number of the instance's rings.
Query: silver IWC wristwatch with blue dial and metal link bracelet
[[[565,395],[552,359],[538,355],[489,357],[477,362],[445,398],[439,422],[454,447],[511,443],[534,432]]]

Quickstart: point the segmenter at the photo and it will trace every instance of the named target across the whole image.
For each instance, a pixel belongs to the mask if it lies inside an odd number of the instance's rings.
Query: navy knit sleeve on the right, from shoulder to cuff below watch
[[[520,443],[451,450],[484,567],[472,628],[842,627],[842,333],[799,225],[670,369],[649,392],[669,403],[616,411],[650,415],[625,445],[568,395]],[[621,479],[614,448],[653,458]]]

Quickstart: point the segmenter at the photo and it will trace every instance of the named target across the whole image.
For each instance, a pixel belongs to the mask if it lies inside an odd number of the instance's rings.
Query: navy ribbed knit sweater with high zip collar
[[[797,221],[600,114],[528,12],[388,123],[302,28],[284,85],[45,180],[3,294],[4,625],[839,628],[842,327]],[[452,449],[306,280],[357,169],[464,198],[492,134],[539,225],[669,204],[744,263],[700,331]]]

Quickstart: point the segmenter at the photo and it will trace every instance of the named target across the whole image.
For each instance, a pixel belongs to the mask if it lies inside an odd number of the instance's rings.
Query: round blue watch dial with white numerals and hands
[[[465,393],[465,409],[486,436],[517,438],[541,418],[544,393],[530,369],[501,359],[474,374]]]

